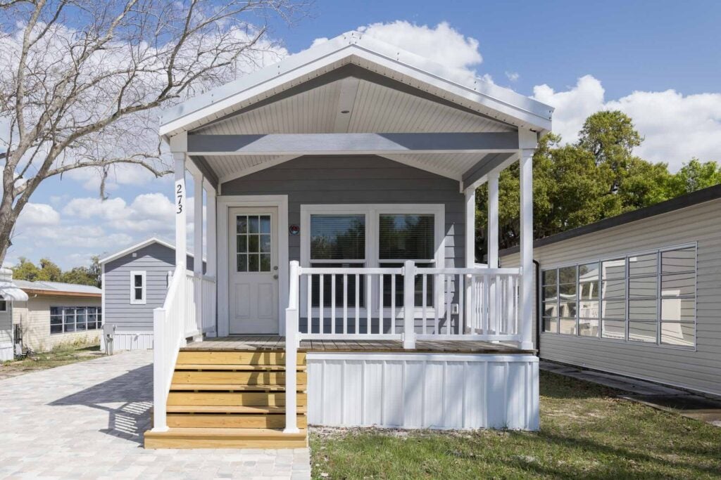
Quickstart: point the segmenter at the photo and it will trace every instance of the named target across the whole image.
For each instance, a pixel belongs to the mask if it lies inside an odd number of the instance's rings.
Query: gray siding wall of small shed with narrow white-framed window
[[[152,331],[153,309],[162,307],[168,289],[167,274],[175,268],[175,250],[152,243],[105,264],[105,323],[113,323],[118,330]],[[186,258],[187,268],[193,270],[193,258]],[[146,271],[146,304],[131,305],[131,271]]]

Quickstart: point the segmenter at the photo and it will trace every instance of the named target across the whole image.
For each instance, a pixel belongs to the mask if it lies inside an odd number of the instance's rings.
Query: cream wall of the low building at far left
[[[13,323],[22,325],[23,346],[45,351],[56,345],[99,342],[102,330],[50,335],[50,307],[100,307],[100,299],[85,296],[31,295],[27,302],[14,302]]]

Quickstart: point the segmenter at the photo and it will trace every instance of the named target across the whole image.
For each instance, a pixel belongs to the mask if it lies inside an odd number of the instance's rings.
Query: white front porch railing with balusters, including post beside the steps
[[[301,340],[523,341],[519,268],[301,268],[291,261],[286,392],[296,391]],[[329,298],[328,298],[329,297]],[[305,315],[304,317],[302,317]],[[304,325],[301,325],[304,320]],[[286,395],[286,431],[297,431]]]

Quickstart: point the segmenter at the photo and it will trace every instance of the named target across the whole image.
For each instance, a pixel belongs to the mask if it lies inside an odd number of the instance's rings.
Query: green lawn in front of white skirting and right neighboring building
[[[721,478],[721,428],[541,371],[541,430],[316,430],[314,479]]]

